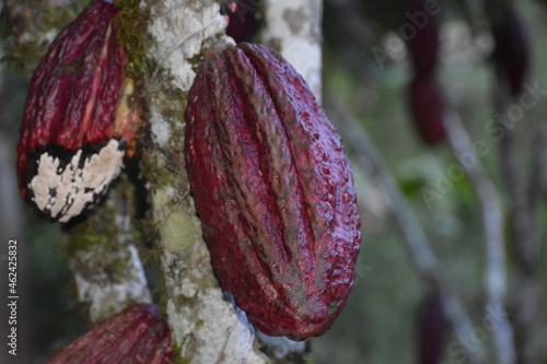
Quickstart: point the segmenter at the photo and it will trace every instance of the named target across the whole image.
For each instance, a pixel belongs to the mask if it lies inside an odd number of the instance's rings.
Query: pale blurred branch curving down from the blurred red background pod
[[[485,286],[487,307],[505,312],[507,257],[500,198],[496,190],[496,186],[488,178],[478,157],[474,160],[475,163],[468,163],[468,161],[465,160],[465,156],[475,154],[472,140],[465,131],[459,120],[459,116],[454,111],[447,113],[447,117],[444,121],[450,144],[455,152],[456,158],[472,181],[481,207],[486,245]],[[498,363],[514,363],[515,350],[513,344],[513,330],[504,317],[500,317],[499,326],[493,331],[493,341]]]

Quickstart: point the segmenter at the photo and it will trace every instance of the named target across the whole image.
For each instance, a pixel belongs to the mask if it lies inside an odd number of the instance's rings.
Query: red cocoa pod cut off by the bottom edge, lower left
[[[167,364],[172,361],[167,322],[154,305],[135,304],[59,349],[48,364]]]

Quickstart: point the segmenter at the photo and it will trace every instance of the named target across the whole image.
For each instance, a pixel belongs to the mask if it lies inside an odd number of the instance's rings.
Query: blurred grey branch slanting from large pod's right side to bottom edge
[[[438,258],[431,248],[431,244],[382,155],[364,129],[360,127],[360,122],[351,116],[342,104],[337,102],[329,109],[334,111],[333,119],[338,121],[337,125],[347,145],[357,156],[354,162],[358,167],[366,171],[375,179],[376,184],[385,190],[392,214],[399,225],[416,269],[427,281],[440,290],[446,316],[457,336],[461,338],[468,337],[474,328],[472,320],[465,313],[457,295],[442,278],[438,267]],[[467,349],[468,359],[472,363],[478,363],[482,360],[484,353],[481,351],[465,340],[461,343]]]

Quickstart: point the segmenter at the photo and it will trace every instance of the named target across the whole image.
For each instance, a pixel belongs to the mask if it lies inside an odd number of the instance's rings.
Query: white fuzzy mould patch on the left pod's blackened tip
[[[36,176],[28,184],[32,200],[53,219],[68,222],[106,193],[124,166],[124,151],[113,139],[98,153],[86,156],[78,150],[65,168],[58,157],[47,152],[37,163]]]

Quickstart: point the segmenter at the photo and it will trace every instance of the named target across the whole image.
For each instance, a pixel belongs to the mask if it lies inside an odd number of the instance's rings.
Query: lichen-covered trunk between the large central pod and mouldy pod
[[[144,7],[144,4],[142,4]],[[184,166],[184,109],[203,42],[231,40],[219,4],[208,0],[155,1],[151,7],[150,143],[143,158],[150,181],[151,221],[163,271],[166,313],[178,357],[185,363],[266,363],[254,348],[254,328],[225,300],[189,196]]]

